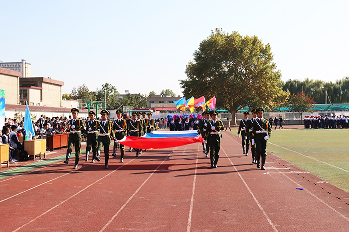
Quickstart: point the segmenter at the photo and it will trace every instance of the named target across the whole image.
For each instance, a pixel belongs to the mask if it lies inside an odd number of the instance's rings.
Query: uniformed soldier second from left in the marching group
[[[92,147],[92,162],[94,162],[94,157],[96,156],[96,150],[97,150],[97,139],[98,139],[98,121],[95,120],[96,113],[93,111],[90,111],[88,113],[90,116],[90,120],[86,121],[86,159],[85,161],[88,161],[88,155],[90,154],[91,147]]]

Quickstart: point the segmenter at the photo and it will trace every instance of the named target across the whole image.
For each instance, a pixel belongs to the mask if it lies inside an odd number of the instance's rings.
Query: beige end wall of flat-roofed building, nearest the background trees
[[[42,82],[42,106],[61,107],[62,86]]]

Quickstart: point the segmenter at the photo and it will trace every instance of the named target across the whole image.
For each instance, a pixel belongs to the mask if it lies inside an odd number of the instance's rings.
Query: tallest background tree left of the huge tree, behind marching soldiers
[[[107,98],[107,109],[113,110],[118,108],[119,92],[115,86],[110,83],[102,84],[102,88],[96,90],[97,101],[105,101]]]

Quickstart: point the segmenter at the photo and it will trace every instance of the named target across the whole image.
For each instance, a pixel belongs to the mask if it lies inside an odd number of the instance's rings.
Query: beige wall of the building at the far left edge
[[[19,103],[19,78],[7,75],[7,71],[1,72],[0,70],[0,89],[5,90],[5,104],[18,104]],[[19,72],[11,71],[14,75]]]

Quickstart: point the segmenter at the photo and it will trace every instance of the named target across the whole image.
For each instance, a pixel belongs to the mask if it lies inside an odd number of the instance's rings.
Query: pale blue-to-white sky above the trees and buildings
[[[178,79],[211,30],[269,43],[282,79],[349,76],[348,0],[1,0],[0,60],[31,64],[63,93],[105,82],[120,93],[182,95]]]

